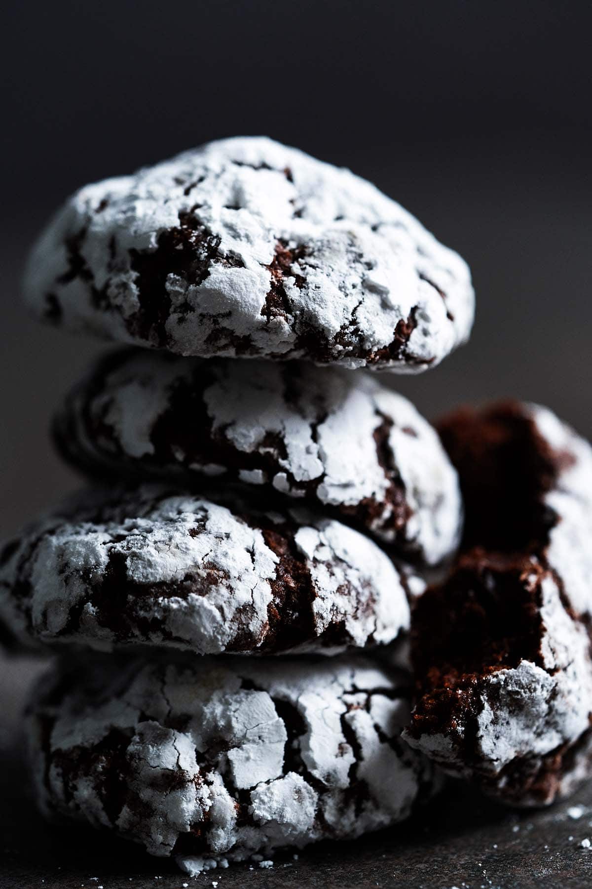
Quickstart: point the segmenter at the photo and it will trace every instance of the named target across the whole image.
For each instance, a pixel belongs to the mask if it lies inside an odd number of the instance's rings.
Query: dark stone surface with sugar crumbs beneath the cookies
[[[541,812],[503,809],[460,782],[413,821],[355,843],[275,856],[272,869],[234,865],[186,877],[166,859],[106,833],[56,828],[36,813],[22,761],[18,710],[37,668],[0,663],[3,713],[0,889],[276,889],[379,886],[401,889],[564,889],[592,885],[592,783],[569,803]],[[573,806],[583,811],[569,812]]]

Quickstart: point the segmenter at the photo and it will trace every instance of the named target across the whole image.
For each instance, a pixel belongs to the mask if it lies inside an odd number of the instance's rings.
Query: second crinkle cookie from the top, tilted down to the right
[[[54,429],[86,471],[230,477],[429,565],[458,545],[461,495],[437,433],[368,373],[121,350],[72,391]]]

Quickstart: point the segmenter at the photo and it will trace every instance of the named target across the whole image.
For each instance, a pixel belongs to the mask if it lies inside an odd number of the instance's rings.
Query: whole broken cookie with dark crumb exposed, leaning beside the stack
[[[406,738],[506,803],[545,805],[592,765],[592,449],[532,404],[439,430],[465,538],[414,610]]]

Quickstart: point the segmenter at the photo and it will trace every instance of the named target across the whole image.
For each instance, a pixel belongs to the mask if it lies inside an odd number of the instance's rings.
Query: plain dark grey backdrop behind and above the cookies
[[[469,260],[468,347],[414,380],[433,416],[513,395],[588,435],[592,7],[352,0],[13,2],[4,19],[0,533],[75,478],[46,428],[104,345],[20,308],[24,255],[85,181],[268,133],[375,180]]]

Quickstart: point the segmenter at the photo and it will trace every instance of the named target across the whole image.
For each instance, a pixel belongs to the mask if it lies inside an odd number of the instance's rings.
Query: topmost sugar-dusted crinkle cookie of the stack
[[[185,356],[419,372],[467,340],[464,261],[366,180],[265,138],[87,186],[45,229],[28,302]]]

